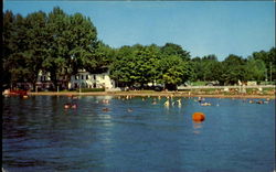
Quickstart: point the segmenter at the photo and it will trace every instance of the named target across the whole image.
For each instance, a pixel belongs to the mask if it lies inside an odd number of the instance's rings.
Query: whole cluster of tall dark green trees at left
[[[4,13],[3,68],[7,84],[29,82],[33,86],[40,71],[50,72],[57,86],[77,69],[98,67],[96,28],[81,13],[67,15],[60,8],[49,14],[34,12],[25,18]]]

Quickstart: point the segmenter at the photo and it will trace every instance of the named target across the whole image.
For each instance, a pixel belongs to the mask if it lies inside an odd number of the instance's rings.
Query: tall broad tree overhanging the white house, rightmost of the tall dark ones
[[[77,69],[96,67],[97,32],[91,19],[81,13],[67,15],[54,8],[49,14],[47,31],[51,55],[43,62],[43,67],[51,73],[54,85],[60,78],[67,83]]]

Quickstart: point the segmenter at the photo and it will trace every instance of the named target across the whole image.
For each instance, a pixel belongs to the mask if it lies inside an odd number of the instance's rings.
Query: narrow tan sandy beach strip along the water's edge
[[[30,96],[173,96],[173,97],[210,97],[210,98],[270,98],[275,99],[275,95],[248,95],[248,94],[188,94],[182,92],[95,92],[95,93],[56,93],[56,92],[39,92],[39,93],[28,93]]]

